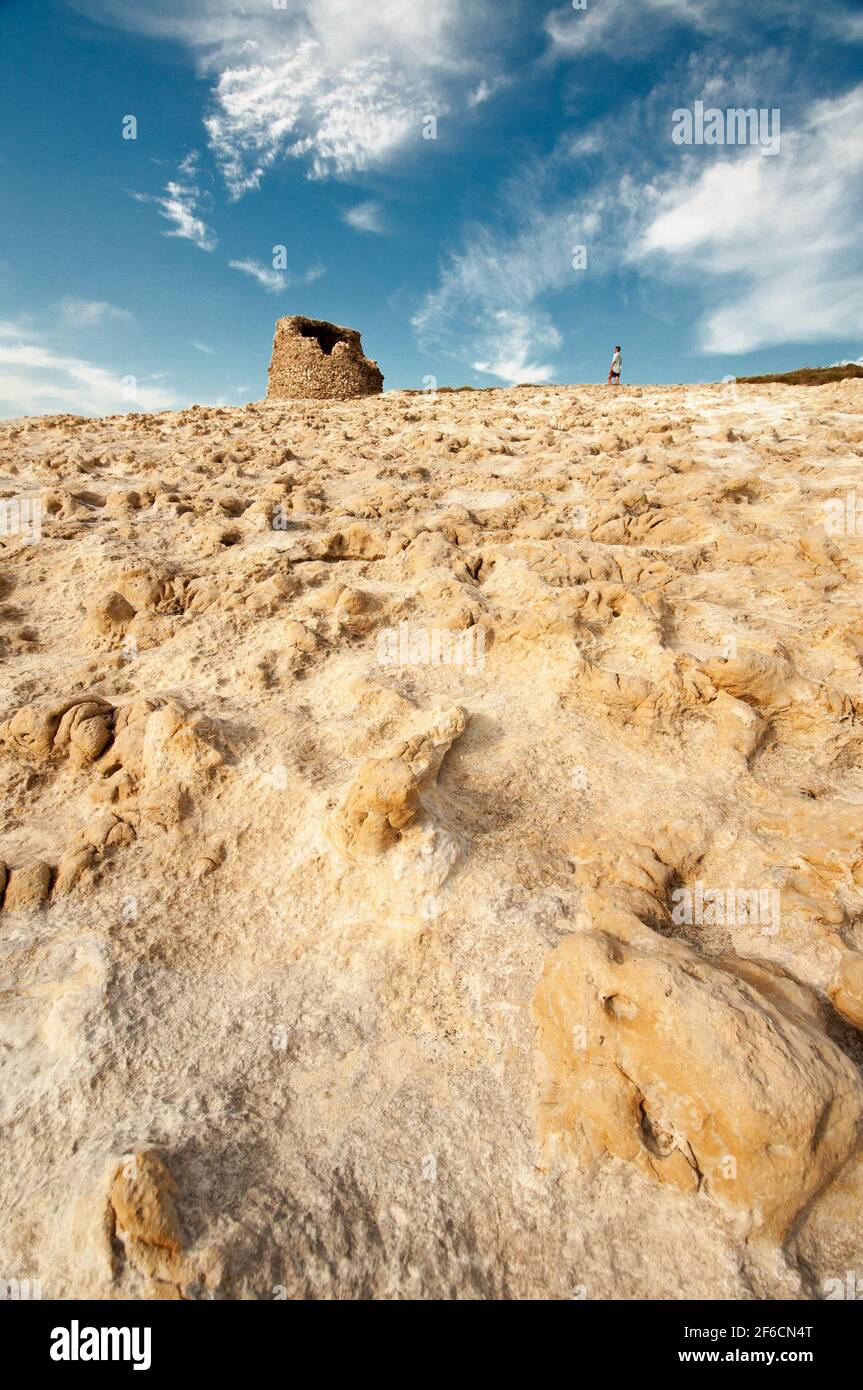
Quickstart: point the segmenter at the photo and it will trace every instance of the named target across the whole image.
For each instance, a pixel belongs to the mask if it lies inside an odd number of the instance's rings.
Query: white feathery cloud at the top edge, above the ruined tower
[[[89,13],[181,40],[215,78],[206,128],[232,197],[281,158],[347,177],[422,150],[422,118],[493,82],[491,0],[78,0]]]

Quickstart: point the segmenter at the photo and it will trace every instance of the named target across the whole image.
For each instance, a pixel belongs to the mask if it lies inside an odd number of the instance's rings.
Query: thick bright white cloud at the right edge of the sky
[[[698,158],[646,190],[630,257],[706,296],[703,350],[863,334],[862,124],[863,85],[816,103],[773,158]]]

